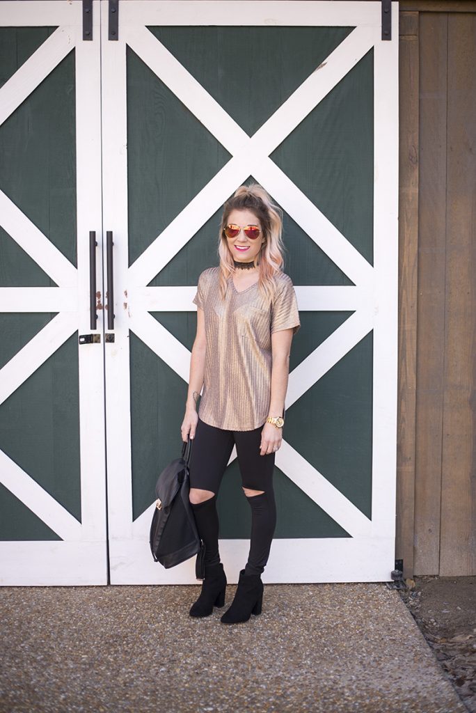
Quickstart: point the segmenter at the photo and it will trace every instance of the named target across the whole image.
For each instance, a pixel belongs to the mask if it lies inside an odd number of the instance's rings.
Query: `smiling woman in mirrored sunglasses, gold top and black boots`
[[[281,445],[291,339],[300,324],[294,287],[281,270],[281,225],[281,211],[264,188],[240,186],[224,205],[219,267],[202,272],[193,300],[197,336],[182,439],[195,438],[190,503],[205,543],[205,580],[191,616],[205,617],[224,605],[216,501],[234,445],[252,508],[249,557],[222,616],[225,624],[261,613],[261,575],[276,525],[274,456]]]

